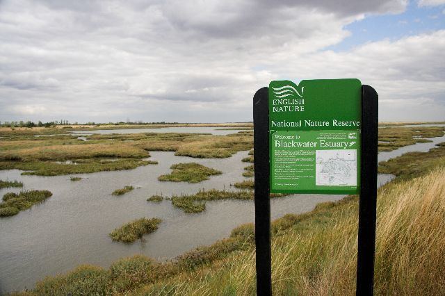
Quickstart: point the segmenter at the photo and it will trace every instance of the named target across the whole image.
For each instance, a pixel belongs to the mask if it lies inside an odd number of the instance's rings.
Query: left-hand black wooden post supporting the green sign
[[[272,295],[268,88],[253,97],[257,295]]]

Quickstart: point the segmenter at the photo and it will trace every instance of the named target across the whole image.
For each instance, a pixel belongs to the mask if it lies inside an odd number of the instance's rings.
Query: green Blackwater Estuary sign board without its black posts
[[[270,192],[357,194],[362,83],[272,81]]]

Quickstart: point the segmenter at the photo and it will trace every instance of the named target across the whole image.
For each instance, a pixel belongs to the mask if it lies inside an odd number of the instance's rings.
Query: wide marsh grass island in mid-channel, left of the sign
[[[199,163],[177,163],[170,167],[170,174],[159,176],[159,181],[198,183],[208,180],[209,176],[223,174],[219,170],[200,165]]]

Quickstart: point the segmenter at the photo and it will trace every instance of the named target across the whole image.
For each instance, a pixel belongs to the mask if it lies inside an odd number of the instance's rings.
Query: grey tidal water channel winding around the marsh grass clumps
[[[379,161],[407,151],[428,151],[445,141],[445,137],[430,139],[433,142],[382,152]],[[106,268],[118,258],[133,254],[145,254],[161,261],[174,258],[197,246],[210,245],[229,236],[234,227],[254,221],[253,201],[207,202],[204,212],[188,214],[173,207],[168,200],[160,203],[146,200],[154,194],[181,195],[202,188],[235,190],[231,184],[245,179],[241,174],[248,163],[241,159],[248,151],[222,159],[175,156],[173,152],[153,151],[150,154],[149,159],[158,161],[158,165],[70,175],[83,178],[76,182],[70,181],[70,176],[22,176],[20,170],[1,170],[0,179],[22,181],[24,190],[46,189],[53,192],[53,196],[18,215],[0,219],[0,294],[33,288],[36,281],[46,276],[67,272],[84,263]],[[158,181],[158,176],[170,172],[170,165],[184,162],[201,163],[223,174],[195,184]],[[378,185],[392,178],[392,175],[379,175]],[[120,197],[111,195],[113,190],[124,186],[135,189]],[[3,188],[0,196],[20,190]],[[304,213],[320,202],[342,197],[291,195],[272,199],[271,216],[276,219],[286,213]],[[116,227],[140,217],[159,217],[163,222],[157,231],[131,244],[113,242],[108,237]]]

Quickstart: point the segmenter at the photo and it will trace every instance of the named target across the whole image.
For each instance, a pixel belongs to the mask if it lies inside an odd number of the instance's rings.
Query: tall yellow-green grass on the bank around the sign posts
[[[443,295],[445,168],[381,188],[377,221],[375,294]],[[274,295],[355,295],[357,199],[277,233],[272,249]],[[137,294],[254,295],[254,254],[234,252]]]

